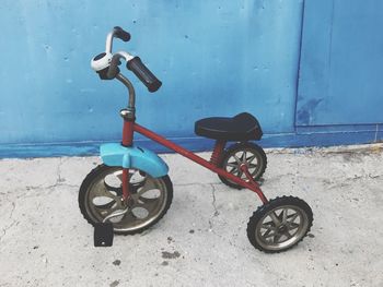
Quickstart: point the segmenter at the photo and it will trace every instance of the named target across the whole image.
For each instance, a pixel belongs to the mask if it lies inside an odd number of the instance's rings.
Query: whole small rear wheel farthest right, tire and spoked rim
[[[258,207],[247,224],[249,242],[267,253],[297,246],[310,231],[313,212],[307,203],[293,196],[270,200]]]

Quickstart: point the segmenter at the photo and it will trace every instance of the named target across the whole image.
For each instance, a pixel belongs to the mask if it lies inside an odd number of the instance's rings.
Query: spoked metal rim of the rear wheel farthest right
[[[255,229],[257,242],[268,250],[287,249],[302,239],[307,230],[306,213],[293,205],[279,206],[266,213]]]

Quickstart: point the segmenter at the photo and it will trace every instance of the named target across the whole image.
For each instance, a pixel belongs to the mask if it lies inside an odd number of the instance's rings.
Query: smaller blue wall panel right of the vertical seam
[[[306,1],[298,125],[383,122],[383,1]]]

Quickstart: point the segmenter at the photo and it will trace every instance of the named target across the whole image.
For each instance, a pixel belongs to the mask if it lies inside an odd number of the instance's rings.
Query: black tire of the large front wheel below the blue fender
[[[97,175],[100,172],[104,172],[105,170],[107,170],[109,168],[116,168],[116,167],[98,165],[97,167],[95,167],[85,177],[85,179],[83,180],[83,182],[82,182],[82,184],[80,187],[80,191],[79,191],[79,207],[80,207],[80,211],[81,211],[81,214],[83,215],[83,217],[92,226],[94,226],[96,223],[100,223],[100,222],[95,222],[93,219],[93,217],[91,215],[89,215],[88,212],[86,212],[86,207],[85,207],[86,191],[88,191],[89,186],[97,177]],[[152,227],[153,225],[155,225],[166,214],[167,210],[170,208],[170,206],[172,204],[172,200],[173,200],[173,184],[172,184],[172,181],[171,181],[169,176],[162,177],[161,180],[165,183],[167,198],[166,198],[164,210],[161,212],[161,214],[158,216],[158,218],[155,218],[155,220],[153,220],[152,223],[150,223],[149,225],[147,225],[147,226],[144,226],[142,228],[139,228],[139,229],[136,229],[136,230],[131,230],[131,231],[118,231],[118,230],[114,229],[114,234],[116,234],[116,235],[136,235],[136,234],[140,234],[140,232],[147,230],[148,228]]]

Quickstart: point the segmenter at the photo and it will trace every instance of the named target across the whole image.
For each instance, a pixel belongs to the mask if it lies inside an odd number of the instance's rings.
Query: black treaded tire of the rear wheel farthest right
[[[281,249],[276,250],[276,249],[267,249],[267,248],[263,247],[257,241],[257,237],[256,237],[256,228],[257,228],[258,223],[264,218],[264,216],[266,214],[268,214],[272,210],[281,207],[281,206],[288,206],[288,205],[299,207],[302,212],[304,212],[306,219],[307,219],[307,225],[306,225],[305,230],[303,230],[303,232],[297,239],[295,242],[293,242],[291,246],[288,246],[286,248],[281,248]],[[301,200],[299,198],[294,198],[294,196],[282,196],[282,198],[276,198],[274,200],[270,200],[268,203],[259,206],[257,208],[257,211],[255,211],[253,213],[252,217],[249,217],[246,231],[247,231],[247,238],[248,238],[249,242],[256,249],[258,249],[263,252],[266,252],[266,253],[279,253],[279,252],[283,252],[283,251],[287,251],[287,250],[295,247],[300,241],[302,241],[303,238],[310,231],[312,225],[313,225],[313,212],[306,202],[304,202],[303,200]]]

